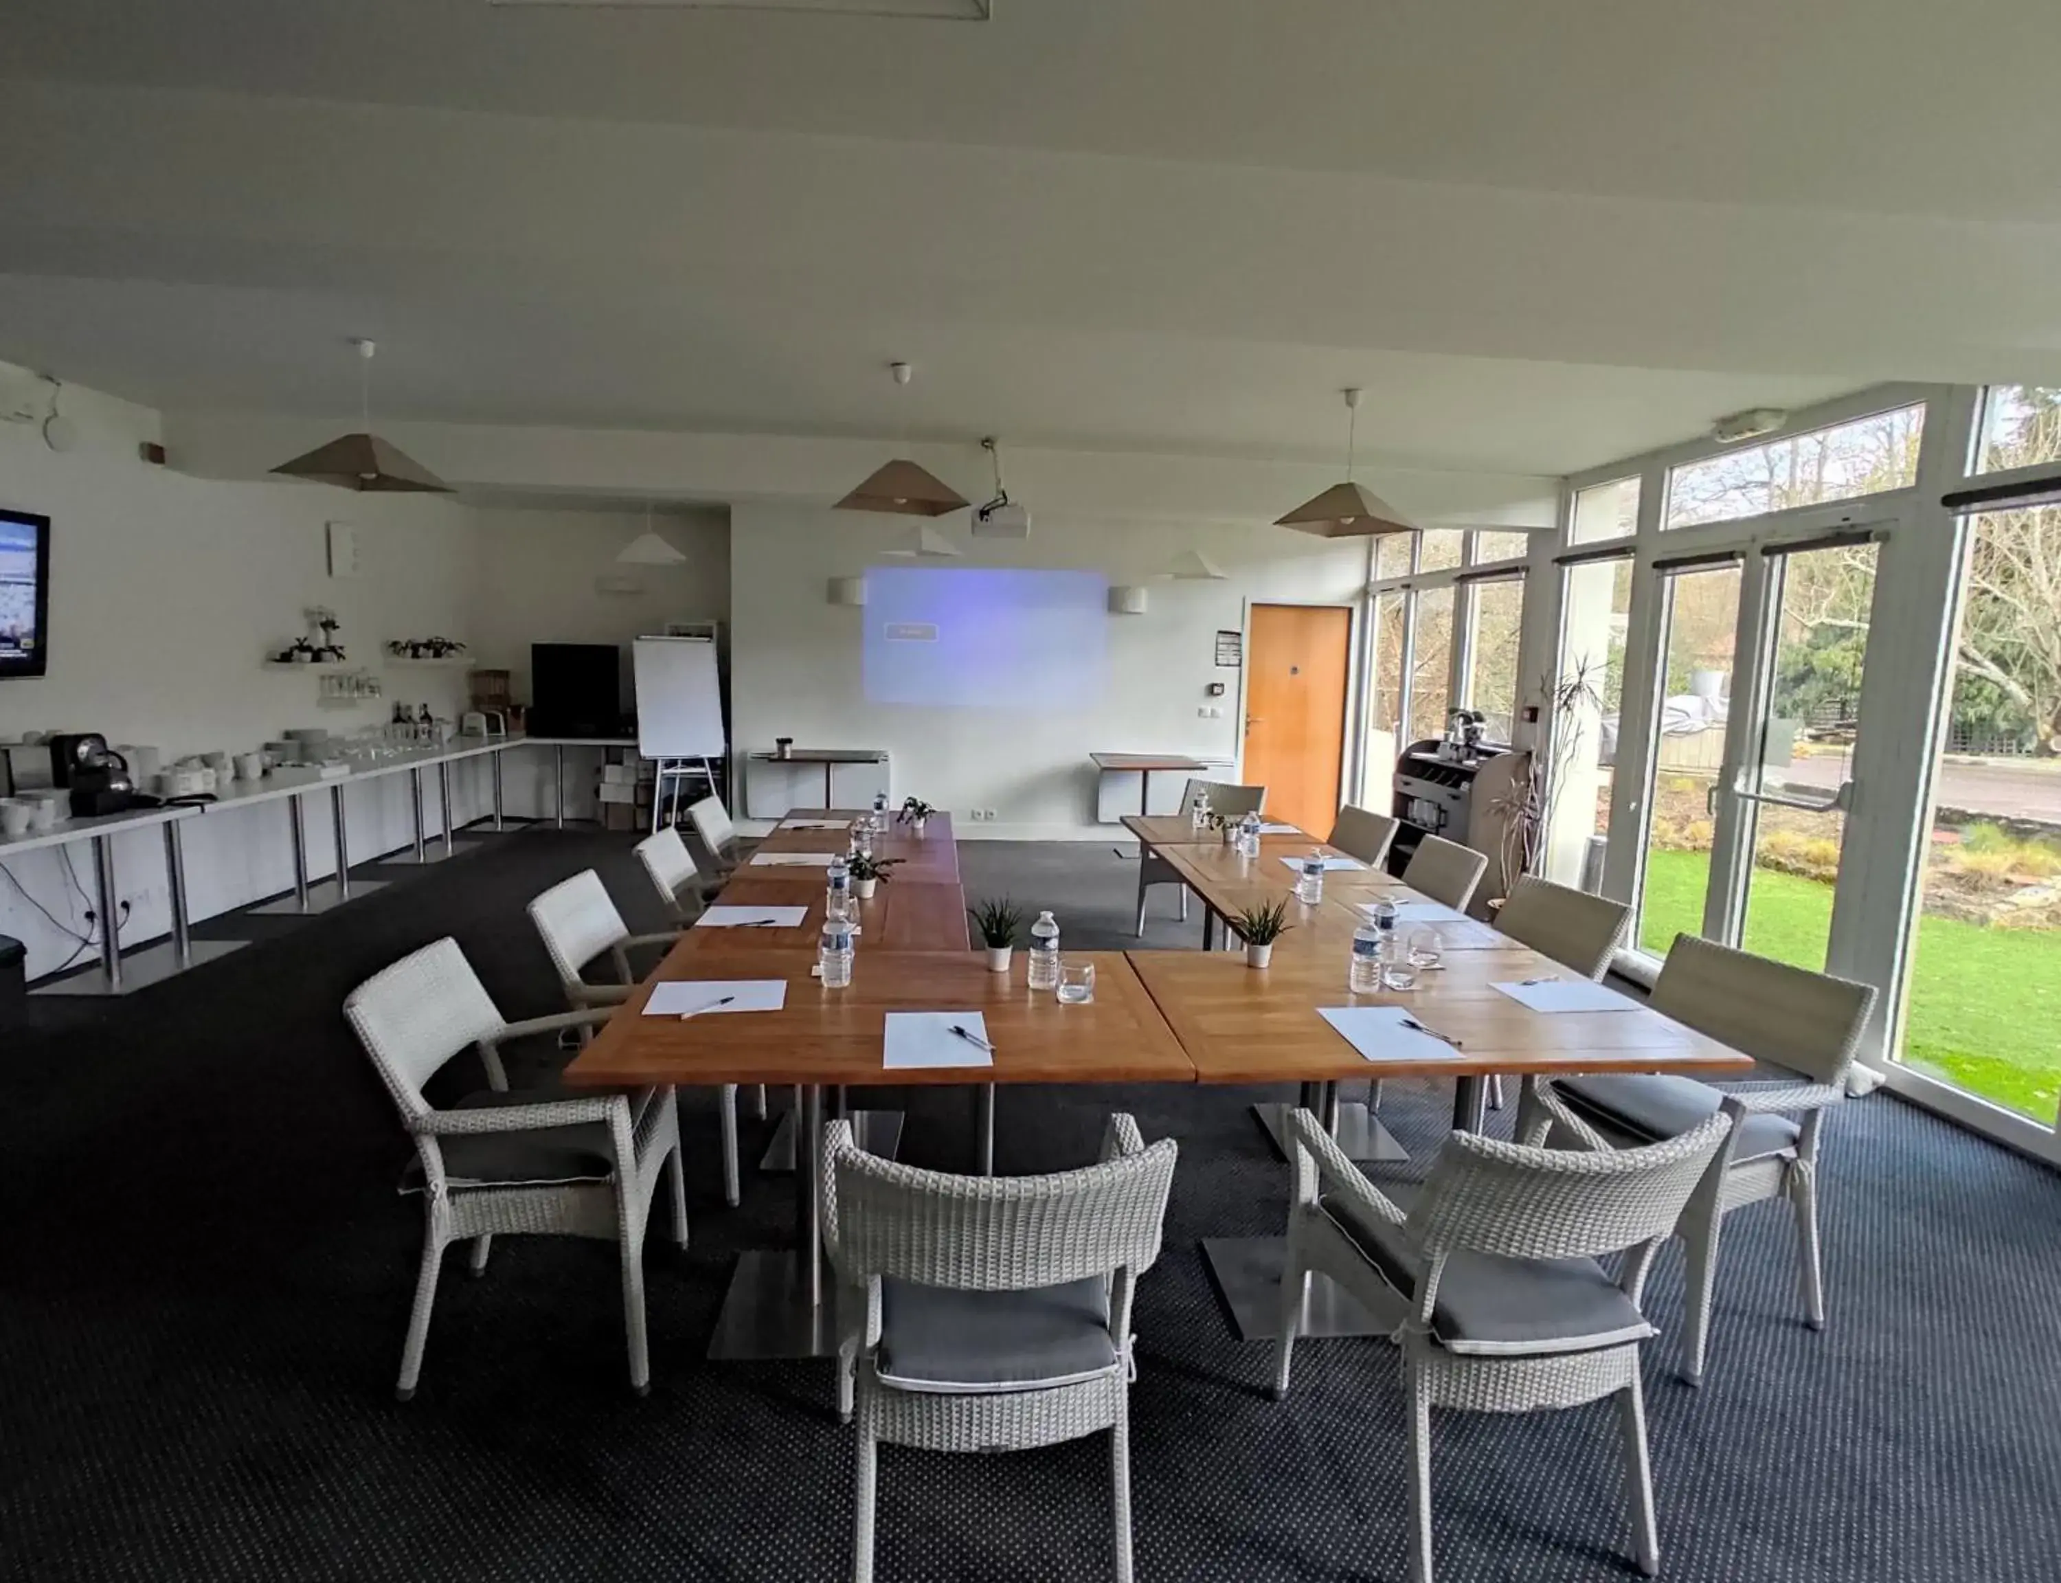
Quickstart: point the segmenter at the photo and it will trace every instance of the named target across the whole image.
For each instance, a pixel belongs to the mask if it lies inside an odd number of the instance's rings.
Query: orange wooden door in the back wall
[[[1352,610],[1255,604],[1245,655],[1245,783],[1268,816],[1329,835],[1346,759]]]

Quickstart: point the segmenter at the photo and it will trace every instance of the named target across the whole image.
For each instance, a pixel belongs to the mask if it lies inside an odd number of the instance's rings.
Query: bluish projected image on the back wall
[[[1107,680],[1109,579],[1094,571],[874,567],[866,697],[958,709],[1086,709]]]

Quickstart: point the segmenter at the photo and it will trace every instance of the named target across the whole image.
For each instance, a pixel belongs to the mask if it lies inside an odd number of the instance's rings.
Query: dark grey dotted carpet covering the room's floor
[[[453,934],[509,1016],[554,1010],[523,917],[600,866],[653,925],[629,841],[536,831],[122,1004],[37,1004],[0,1107],[0,1575],[31,1579],[837,1579],[851,1441],[826,1365],[711,1365],[742,1247],[789,1235],[785,1181],[717,1191],[686,1097],[692,1251],[647,1253],[653,1391],[624,1383],[614,1251],[503,1241],[447,1261],[420,1395],[392,1400],[418,1247],[392,1103],[338,1006]],[[975,897],[1051,905],[1070,944],[1129,944],[1109,845],[969,843]],[[1154,892],[1154,944],[1191,942]],[[859,965],[864,971],[864,958]],[[1288,1402],[1232,1340],[1195,1243],[1280,1226],[1286,1171],[1243,1090],[1010,1094],[1002,1169],[1090,1158],[1131,1109],[1177,1136],[1167,1253],[1138,1305],[1142,1579],[1397,1579],[1404,1426],[1391,1350],[1307,1342]],[[1443,1094],[1391,1084],[1422,1158]],[[911,1099],[907,1158],[962,1169],[971,1103]],[[756,1144],[765,1127],[746,1127]],[[756,1154],[756,1150],[752,1150]],[[1711,1383],[1674,1381],[1682,1274],[1649,1346],[1663,1575],[1857,1583],[2051,1577],[2061,1554],[2061,1183],[1890,1097],[1828,1144],[1832,1327],[1797,1321],[1779,1206],[1727,1226]],[[1443,1579],[1632,1577],[1608,1408],[1434,1416]],[[1107,1447],[882,1457],[880,1579],[1107,1573]]]

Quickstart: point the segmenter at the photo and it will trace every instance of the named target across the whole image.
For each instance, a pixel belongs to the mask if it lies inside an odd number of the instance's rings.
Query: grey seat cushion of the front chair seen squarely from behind
[[[1117,1367],[1101,1276],[1026,1292],[880,1282],[874,1373],[903,1391],[1022,1391]]]

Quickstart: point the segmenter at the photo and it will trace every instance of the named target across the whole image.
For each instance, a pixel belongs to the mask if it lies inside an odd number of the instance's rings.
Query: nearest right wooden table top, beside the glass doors
[[[1523,946],[1465,950],[1410,991],[1354,996],[1344,952],[1276,954],[1265,969],[1216,950],[1134,950],[1131,967],[1158,1002],[1202,1082],[1323,1082],[1505,1072],[1686,1072],[1727,1078],[1754,1070],[1715,1039],[1641,1002],[1622,1012],[1542,1014],[1494,983],[1573,979]],[[1321,1006],[1404,1006],[1461,1043],[1451,1062],[1364,1059]]]

